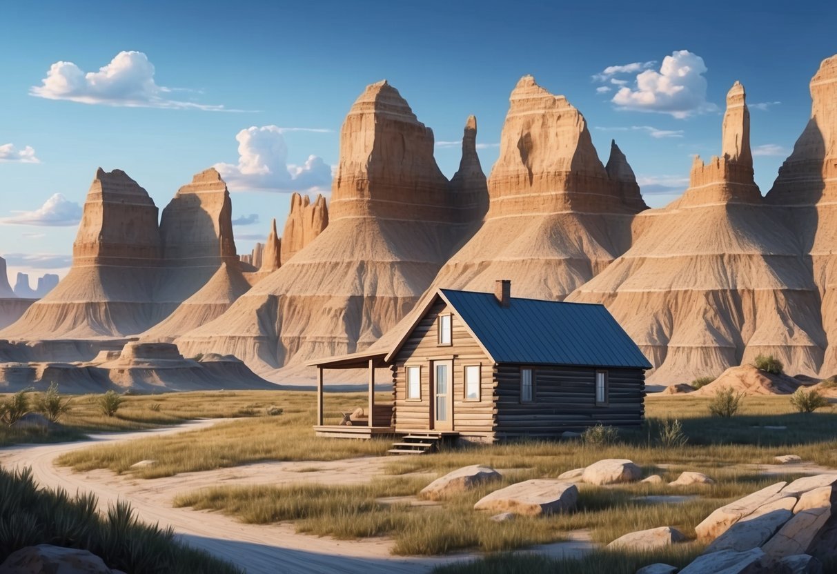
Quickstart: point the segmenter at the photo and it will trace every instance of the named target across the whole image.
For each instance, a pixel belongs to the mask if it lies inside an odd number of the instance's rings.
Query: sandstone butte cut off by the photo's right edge
[[[837,55],[819,65],[810,90],[808,126],[779,168],[767,201],[793,222],[813,265],[827,336],[820,375],[830,377],[837,372]]]

